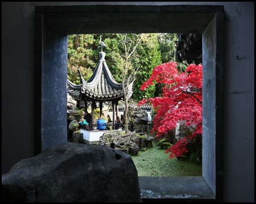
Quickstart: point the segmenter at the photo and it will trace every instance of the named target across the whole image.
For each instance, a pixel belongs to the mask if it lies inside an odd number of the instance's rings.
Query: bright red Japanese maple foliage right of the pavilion
[[[176,62],[167,62],[158,65],[153,70],[151,77],[142,84],[145,90],[150,84],[164,83],[162,97],[143,99],[138,105],[147,101],[156,108],[154,127],[152,133],[157,131],[156,137],[161,137],[167,131],[175,129],[180,120],[187,121],[185,125],[196,125],[195,131],[172,145],[166,153],[171,151],[170,158],[181,156],[188,152],[185,145],[188,139],[193,139],[196,134],[202,133],[202,85],[203,67],[201,64],[188,65],[185,73],[179,73]]]

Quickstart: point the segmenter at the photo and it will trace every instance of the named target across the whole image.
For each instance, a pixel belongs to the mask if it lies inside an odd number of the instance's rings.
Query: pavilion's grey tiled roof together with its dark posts
[[[85,110],[88,107],[92,108],[92,122],[94,122],[94,109],[100,108],[100,115],[102,114],[102,107],[110,105],[112,102],[113,122],[118,115],[118,101],[123,99],[122,83],[117,83],[110,73],[105,61],[105,52],[100,52],[100,61],[94,70],[90,79],[85,82],[80,70],[80,85],[73,84],[68,80],[68,93],[77,101],[85,101]],[[125,82],[125,91],[128,97],[131,96],[132,85]]]

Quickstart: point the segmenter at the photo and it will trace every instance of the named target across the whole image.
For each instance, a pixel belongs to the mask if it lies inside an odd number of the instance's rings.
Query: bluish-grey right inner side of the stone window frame
[[[208,28],[203,33],[203,161],[216,164],[216,20],[210,22]],[[207,117],[205,117],[207,116]],[[213,127],[212,127],[213,126]],[[206,148],[204,148],[206,147]],[[216,186],[215,165],[204,165],[203,176],[205,181],[214,191]],[[214,192],[216,193],[216,192]]]

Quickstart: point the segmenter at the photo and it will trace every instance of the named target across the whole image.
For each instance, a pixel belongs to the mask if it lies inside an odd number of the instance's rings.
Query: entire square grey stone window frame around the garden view
[[[222,201],[224,6],[36,6],[35,155],[67,142],[67,35],[126,32],[203,33],[203,176],[139,177],[143,201]]]

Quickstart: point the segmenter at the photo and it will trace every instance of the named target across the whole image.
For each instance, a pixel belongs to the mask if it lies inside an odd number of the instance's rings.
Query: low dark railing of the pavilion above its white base
[[[81,125],[79,123],[80,128],[85,130],[118,130],[123,127],[123,122],[121,123],[107,123],[107,124],[88,124],[88,125]]]

